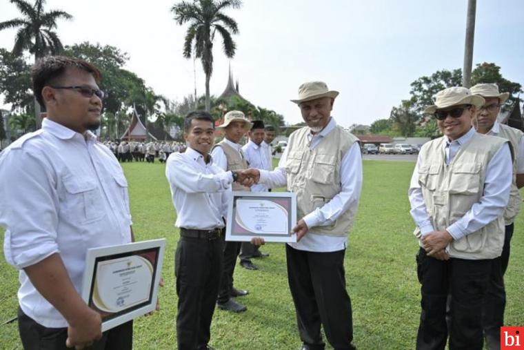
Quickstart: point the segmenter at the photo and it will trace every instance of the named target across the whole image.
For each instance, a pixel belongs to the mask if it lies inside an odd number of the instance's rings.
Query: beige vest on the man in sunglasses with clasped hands
[[[507,141],[475,133],[449,165],[445,164],[445,142],[445,137],[427,142],[421,149],[419,164],[419,184],[427,213],[437,231],[444,231],[461,219],[481,199],[487,164]],[[501,255],[503,243],[501,216],[482,229],[452,241],[448,248],[450,257],[493,259]]]

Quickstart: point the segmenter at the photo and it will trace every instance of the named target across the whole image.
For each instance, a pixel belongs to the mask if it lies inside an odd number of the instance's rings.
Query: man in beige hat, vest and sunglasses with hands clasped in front
[[[476,133],[484,99],[463,87],[441,90],[425,109],[444,134],[424,144],[409,190],[419,239],[421,320],[416,349],[444,349],[451,295],[450,349],[482,349],[481,315],[493,261],[504,243],[510,197],[509,142]]]

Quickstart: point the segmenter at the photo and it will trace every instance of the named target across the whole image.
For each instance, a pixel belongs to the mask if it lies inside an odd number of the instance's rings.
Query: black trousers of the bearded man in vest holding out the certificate
[[[335,350],[352,349],[353,318],[345,289],[345,250],[329,253],[299,251],[285,245],[288,281],[302,342],[324,349],[321,324]]]

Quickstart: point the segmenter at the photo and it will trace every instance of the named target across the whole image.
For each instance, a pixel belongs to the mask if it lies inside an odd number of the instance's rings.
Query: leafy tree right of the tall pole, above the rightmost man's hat
[[[519,99],[518,95],[522,93],[522,86],[514,81],[509,81],[501,75],[501,67],[496,64],[484,62],[477,64],[472,72],[472,86],[482,83],[495,83],[498,90],[503,93],[510,93],[510,102],[504,104],[505,110],[510,110],[513,104]]]

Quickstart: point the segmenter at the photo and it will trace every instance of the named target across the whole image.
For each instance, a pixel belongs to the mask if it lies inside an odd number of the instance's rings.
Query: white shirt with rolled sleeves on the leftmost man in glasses
[[[21,309],[45,327],[68,327],[23,271],[59,253],[81,293],[85,252],[131,242],[128,183],[111,151],[46,118],[0,157],[3,251],[19,269]]]

